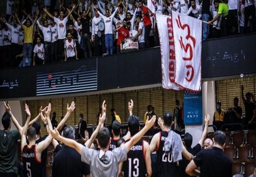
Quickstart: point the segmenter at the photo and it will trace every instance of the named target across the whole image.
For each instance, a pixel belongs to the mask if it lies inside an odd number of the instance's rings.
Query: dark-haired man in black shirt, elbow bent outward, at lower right
[[[212,149],[200,151],[197,156],[189,163],[186,173],[191,176],[207,177],[231,177],[232,162],[224,154],[226,135],[222,131],[214,133],[214,146]],[[196,170],[200,167],[200,171]]]

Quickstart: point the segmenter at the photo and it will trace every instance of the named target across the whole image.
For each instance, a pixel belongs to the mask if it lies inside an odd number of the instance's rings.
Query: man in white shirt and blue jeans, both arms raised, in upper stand
[[[117,13],[119,7],[115,9],[115,11],[110,15],[110,11],[106,9],[106,16],[102,15],[98,9],[95,9],[95,11],[98,11],[98,14],[100,17],[102,17],[102,20],[105,24],[105,46],[106,46],[106,53],[109,55],[113,55],[113,17],[115,16],[115,13]]]

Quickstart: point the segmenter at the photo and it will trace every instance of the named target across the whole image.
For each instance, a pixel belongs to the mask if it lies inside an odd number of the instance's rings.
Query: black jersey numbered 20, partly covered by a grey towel
[[[179,169],[177,163],[173,162],[172,153],[164,152],[164,141],[166,137],[168,137],[168,132],[161,131],[159,133],[159,147],[156,150],[157,160],[156,160],[156,174],[157,176],[171,176],[176,177],[179,176]]]

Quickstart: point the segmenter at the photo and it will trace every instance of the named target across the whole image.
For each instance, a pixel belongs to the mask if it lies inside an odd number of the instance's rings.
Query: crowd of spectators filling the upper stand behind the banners
[[[203,40],[255,32],[253,0],[7,0],[0,19],[1,67],[26,67],[159,45],[155,14],[203,20]],[[125,48],[125,42],[131,44]]]

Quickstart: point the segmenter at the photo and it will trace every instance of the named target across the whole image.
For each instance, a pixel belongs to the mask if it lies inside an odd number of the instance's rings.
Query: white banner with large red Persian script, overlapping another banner
[[[202,22],[172,11],[176,54],[175,83],[188,90],[201,90]],[[162,26],[161,26],[162,27]]]

